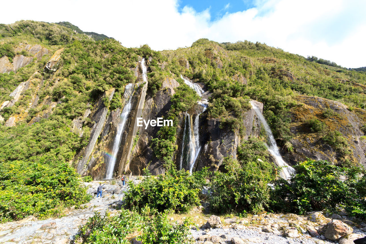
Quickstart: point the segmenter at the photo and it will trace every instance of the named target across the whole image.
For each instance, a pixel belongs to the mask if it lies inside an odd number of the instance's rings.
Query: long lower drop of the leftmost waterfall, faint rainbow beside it
[[[117,133],[113,141],[113,149],[112,154],[110,157],[108,157],[107,161],[107,170],[105,171],[105,179],[112,179],[113,178],[113,171],[116,164],[116,157],[119,150],[119,146],[121,144],[122,134],[124,132],[124,127],[126,125],[128,114],[130,114],[131,108],[132,108],[132,93],[134,91],[135,84],[127,84],[126,88],[124,89],[123,97],[125,101],[127,101],[126,104],[123,106],[123,110],[119,117],[119,124],[117,127]]]

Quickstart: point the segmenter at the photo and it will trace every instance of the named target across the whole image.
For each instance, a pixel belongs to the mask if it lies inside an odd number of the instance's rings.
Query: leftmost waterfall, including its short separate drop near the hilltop
[[[145,58],[143,58],[141,60],[141,69],[142,69],[142,80],[143,81],[147,81],[147,68],[145,66]],[[124,93],[123,93],[123,98],[126,101],[125,105],[123,106],[122,112],[120,114],[119,117],[119,124],[117,127],[117,133],[116,136],[113,140],[113,149],[112,152],[105,152],[105,156],[106,156],[106,171],[105,171],[105,179],[112,179],[113,178],[113,171],[115,169],[115,164],[117,161],[117,154],[121,145],[121,139],[122,139],[122,134],[125,130],[125,126],[126,126],[126,122],[128,119],[128,115],[131,112],[131,108],[132,108],[132,97],[133,97],[133,93],[134,93],[134,89],[135,89],[135,84],[127,84],[125,89],[124,89]]]

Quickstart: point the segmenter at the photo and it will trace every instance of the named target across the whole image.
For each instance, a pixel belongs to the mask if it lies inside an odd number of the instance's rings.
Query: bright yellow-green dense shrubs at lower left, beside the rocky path
[[[42,217],[61,201],[65,206],[89,201],[79,175],[67,164],[0,162],[0,222],[27,215]]]

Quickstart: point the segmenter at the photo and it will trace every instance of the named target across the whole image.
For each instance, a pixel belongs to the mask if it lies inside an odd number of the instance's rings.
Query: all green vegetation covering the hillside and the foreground
[[[94,40],[85,34],[91,34]],[[307,160],[295,166],[297,175],[288,184],[275,179],[277,169],[268,162],[263,137],[243,140],[243,119],[251,108],[249,101],[254,99],[264,104],[263,114],[277,143],[291,152],[294,149],[290,140],[294,135],[290,131],[290,110],[302,106],[296,96],[340,101],[350,110],[365,108],[365,72],[343,69],[316,57],[306,59],[259,42],[219,44],[199,39],[190,48],[156,52],[148,45],[125,48],[106,36],[85,34],[68,22],[19,21],[0,25],[0,57],[11,60],[20,42],[40,44],[50,50],[49,55],[16,72],[0,74],[2,104],[12,99],[9,94],[16,86],[38,71],[34,75],[37,79],[21,99],[0,112],[5,120],[17,117],[16,126],[0,128],[1,222],[31,214],[40,218],[55,216],[62,214],[65,207],[89,200],[80,185],[81,178],[72,168],[94,126],[83,115],[101,97],[109,111],[121,108],[124,88],[127,83],[136,82],[134,70],[141,58],[146,58],[149,66],[148,96],[162,95],[165,78],[174,78],[180,84],[171,98],[171,107],[162,115],[164,119],[172,119],[173,126],[161,127],[152,135],[149,145],[156,156],[154,160],[165,164],[166,173],[157,177],[147,175],[137,185],[130,183],[125,199],[130,210],[123,210],[120,216],[91,218],[79,233],[83,243],[115,243],[117,238],[125,243],[132,233],[139,233],[138,239],[146,243],[188,242],[185,239],[188,222],[173,227],[164,212],[186,212],[201,200],[208,200],[211,209],[221,213],[262,210],[303,213],[344,207],[365,218],[365,177],[358,177],[360,170],[347,164],[346,156],[351,154],[347,139],[324,123],[337,118],[333,110],[325,109],[317,115],[318,119],[314,117],[305,124],[311,132],[319,133],[320,141],[336,149],[337,155],[344,159],[341,164],[348,168]],[[56,71],[45,72],[43,67],[50,55],[60,48],[64,49],[54,66]],[[26,51],[20,53],[29,55]],[[219,118],[221,128],[227,126],[241,139],[237,160],[225,159],[220,172],[213,174],[209,197],[201,195],[207,170],[192,175],[177,171],[172,159],[178,148],[180,113],[189,111],[199,100],[180,75],[202,82],[212,92],[209,118]],[[36,92],[38,85],[40,89]],[[113,89],[115,93],[109,101]],[[39,97],[38,105],[30,108],[35,95]],[[35,118],[40,121],[34,123]],[[82,136],[73,130],[74,119],[81,121]],[[364,133],[365,127],[361,127]],[[138,135],[134,138],[133,148],[138,138]],[[347,175],[346,181],[338,180],[341,174]],[[91,180],[83,178],[85,182]],[[275,183],[274,191],[269,183]]]

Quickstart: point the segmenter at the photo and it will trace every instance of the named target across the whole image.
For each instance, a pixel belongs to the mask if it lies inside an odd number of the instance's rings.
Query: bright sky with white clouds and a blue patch
[[[18,0],[0,23],[68,21],[125,47],[190,47],[199,38],[252,41],[343,67],[366,66],[365,0]]]

